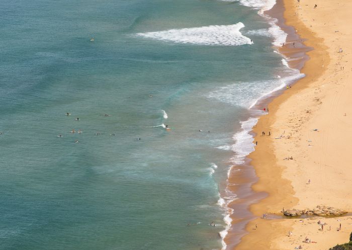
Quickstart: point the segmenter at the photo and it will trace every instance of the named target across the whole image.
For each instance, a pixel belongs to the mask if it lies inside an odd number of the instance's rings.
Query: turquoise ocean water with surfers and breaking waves
[[[225,248],[240,122],[297,76],[271,4],[3,0],[0,249]]]

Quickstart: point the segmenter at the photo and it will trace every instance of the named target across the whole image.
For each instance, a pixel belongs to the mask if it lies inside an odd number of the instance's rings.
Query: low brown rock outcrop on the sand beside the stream
[[[341,215],[347,213],[342,209],[319,205],[313,209],[283,209],[282,211],[286,216],[301,216],[303,214],[307,215],[319,215],[319,216],[331,216],[331,215]]]

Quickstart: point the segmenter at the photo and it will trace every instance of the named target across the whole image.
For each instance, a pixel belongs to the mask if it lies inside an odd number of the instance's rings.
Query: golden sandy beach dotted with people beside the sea
[[[286,24],[295,27],[304,44],[314,50],[307,53],[310,59],[301,70],[306,77],[273,100],[270,114],[260,117],[253,130],[258,145],[249,158],[259,180],[252,188],[269,196],[250,207],[258,218],[248,223],[249,233],[235,249],[282,250],[299,245],[329,249],[347,242],[352,231],[350,214],[260,218],[263,213],[280,214],[283,208],[317,205],[352,211],[348,146],[352,139],[348,82],[352,2],[285,0],[284,4]],[[281,49],[284,54],[285,50]],[[323,228],[318,221],[325,223]],[[311,243],[303,242],[306,237]]]

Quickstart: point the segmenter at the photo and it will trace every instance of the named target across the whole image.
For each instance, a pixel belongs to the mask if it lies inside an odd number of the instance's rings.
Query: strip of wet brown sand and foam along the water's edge
[[[284,65],[300,73],[299,71],[302,69],[305,62],[309,60],[306,52],[313,48],[305,46],[296,33],[295,28],[285,24],[284,12],[285,6],[283,0],[277,0],[273,8],[259,11],[258,14],[267,17],[269,23],[274,22],[274,24],[287,34],[286,40],[282,44],[283,46],[278,46],[279,44],[273,43],[274,52],[282,55]],[[251,117],[241,122],[241,130],[234,135],[234,140],[236,141],[236,135],[239,133],[247,134],[246,144],[251,144],[252,151],[254,151],[255,144],[253,140],[255,134],[252,130],[258,119],[260,116],[268,114],[267,107],[269,103],[280,96],[287,86],[296,84],[302,77],[304,77],[304,75],[288,79],[282,86],[279,86],[256,100],[250,107]],[[266,112],[263,111],[263,108],[266,108]],[[249,211],[249,206],[268,196],[267,193],[256,193],[251,188],[251,186],[257,182],[258,177],[255,175],[254,167],[250,164],[251,159],[247,157],[248,154],[249,153],[241,155],[241,157],[243,157],[242,162],[235,161],[235,164],[231,166],[228,173],[227,186],[223,191],[224,197],[230,192],[236,194],[236,199],[227,203],[228,212],[224,219],[227,223],[227,231],[225,235],[221,235],[223,236],[222,249],[227,249],[227,247],[233,248],[240,242],[241,238],[248,233],[245,230],[247,223],[256,218]]]

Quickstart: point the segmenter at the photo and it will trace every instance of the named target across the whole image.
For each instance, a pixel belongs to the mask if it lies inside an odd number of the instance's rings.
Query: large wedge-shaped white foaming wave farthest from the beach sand
[[[241,22],[233,25],[212,25],[198,28],[171,29],[165,31],[137,33],[138,36],[161,41],[198,45],[236,46],[252,44],[248,37],[240,32]]]

